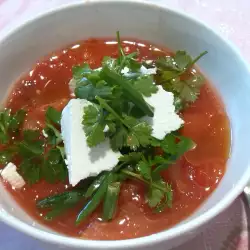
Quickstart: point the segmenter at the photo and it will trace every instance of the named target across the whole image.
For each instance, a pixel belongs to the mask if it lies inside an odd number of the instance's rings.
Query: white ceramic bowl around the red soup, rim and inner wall
[[[0,39],[0,95],[38,59],[62,46],[89,37],[123,36],[148,40],[192,55],[207,50],[198,64],[219,91],[230,117],[232,151],[227,171],[216,191],[185,221],[143,238],[88,241],[59,235],[33,220],[1,187],[1,219],[8,225],[50,244],[72,249],[171,249],[194,236],[201,226],[223,211],[250,177],[250,71],[239,52],[204,24],[185,14],[131,1],[78,3],[28,21]]]

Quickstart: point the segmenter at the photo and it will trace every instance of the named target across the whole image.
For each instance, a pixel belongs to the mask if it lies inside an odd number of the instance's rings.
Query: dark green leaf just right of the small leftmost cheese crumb
[[[33,185],[40,180],[40,164],[34,159],[24,160],[19,168],[22,177],[29,185]]]

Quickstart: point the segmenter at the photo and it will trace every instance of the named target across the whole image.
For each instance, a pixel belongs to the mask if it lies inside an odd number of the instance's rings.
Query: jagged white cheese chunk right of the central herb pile
[[[174,95],[158,86],[158,91],[150,97],[144,97],[145,101],[154,107],[154,117],[144,117],[143,120],[152,125],[152,135],[162,140],[166,134],[179,129],[184,121],[175,112]]]

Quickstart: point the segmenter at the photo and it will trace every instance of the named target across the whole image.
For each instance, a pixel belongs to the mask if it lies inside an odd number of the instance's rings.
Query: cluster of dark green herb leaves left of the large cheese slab
[[[29,185],[45,179],[54,183],[67,179],[67,168],[64,162],[64,148],[60,132],[61,113],[52,107],[46,111],[46,126],[44,133],[39,130],[24,130],[11,141],[11,135],[21,130],[26,112],[20,110],[11,114],[10,110],[1,113],[4,124],[4,136],[9,145],[0,153],[0,163],[7,164],[18,159],[20,161],[19,173]],[[7,140],[8,138],[8,140]]]

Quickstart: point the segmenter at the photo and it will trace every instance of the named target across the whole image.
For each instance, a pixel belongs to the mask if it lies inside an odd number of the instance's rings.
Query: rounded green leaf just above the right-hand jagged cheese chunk
[[[142,76],[134,83],[135,89],[144,96],[151,96],[157,93],[158,87],[154,83],[153,76]]]

